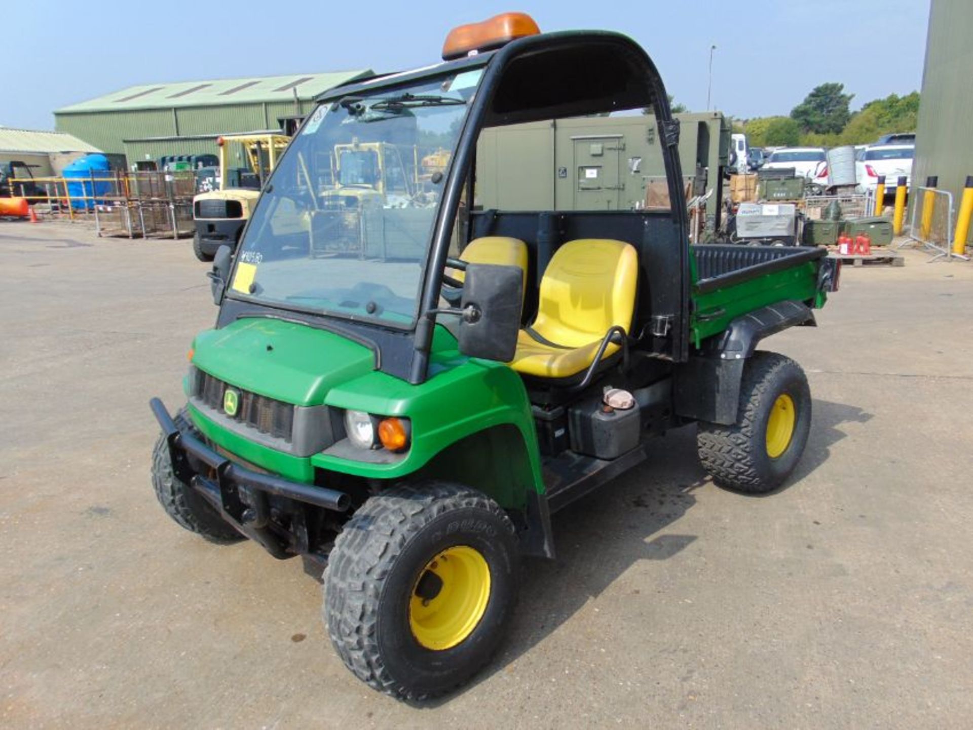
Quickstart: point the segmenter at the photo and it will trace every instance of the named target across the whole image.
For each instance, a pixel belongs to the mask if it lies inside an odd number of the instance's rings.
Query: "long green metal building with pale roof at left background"
[[[306,115],[331,87],[369,69],[128,87],[54,112],[54,127],[129,165],[162,155],[216,152],[220,134],[277,130]]]

